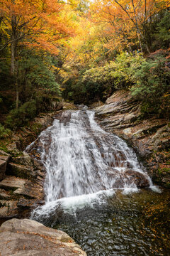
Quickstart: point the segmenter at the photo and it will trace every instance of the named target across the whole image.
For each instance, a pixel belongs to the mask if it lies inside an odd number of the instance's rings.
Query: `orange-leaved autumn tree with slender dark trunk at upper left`
[[[57,0],[4,0],[0,2],[1,31],[5,35],[1,50],[10,47],[11,75],[18,75],[18,49],[44,50],[57,55],[62,39],[74,33],[68,7]],[[18,82],[16,81],[16,107]]]

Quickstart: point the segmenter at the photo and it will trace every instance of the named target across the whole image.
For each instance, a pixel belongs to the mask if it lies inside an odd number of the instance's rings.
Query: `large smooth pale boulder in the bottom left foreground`
[[[1,256],[86,256],[72,238],[34,220],[11,219],[0,228]]]

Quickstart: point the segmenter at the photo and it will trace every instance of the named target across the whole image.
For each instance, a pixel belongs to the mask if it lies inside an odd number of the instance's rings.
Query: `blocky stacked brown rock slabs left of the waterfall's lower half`
[[[18,217],[44,201],[44,166],[26,153],[11,161],[0,181],[0,218]]]

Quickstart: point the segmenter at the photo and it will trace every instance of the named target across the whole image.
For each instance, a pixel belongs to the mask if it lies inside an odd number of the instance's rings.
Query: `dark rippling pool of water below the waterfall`
[[[58,209],[42,222],[67,232],[88,256],[170,255],[169,191],[118,192],[105,205]]]

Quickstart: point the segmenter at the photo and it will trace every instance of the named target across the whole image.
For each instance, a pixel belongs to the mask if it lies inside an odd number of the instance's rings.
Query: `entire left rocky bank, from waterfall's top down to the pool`
[[[63,110],[77,107],[64,102]],[[0,218],[28,218],[30,210],[44,203],[45,168],[40,154],[30,156],[23,150],[42,130],[49,127],[56,114],[41,113],[27,127],[13,132],[11,138],[0,139]],[[2,150],[3,149],[3,150]],[[36,160],[37,159],[37,160]]]

